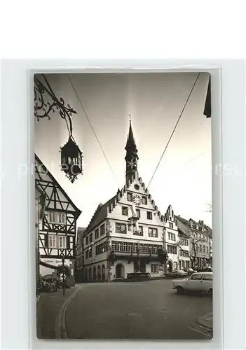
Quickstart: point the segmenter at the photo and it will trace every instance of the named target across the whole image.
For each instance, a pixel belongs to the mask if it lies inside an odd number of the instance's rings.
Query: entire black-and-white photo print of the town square
[[[34,74],[39,339],[212,339],[210,85]]]

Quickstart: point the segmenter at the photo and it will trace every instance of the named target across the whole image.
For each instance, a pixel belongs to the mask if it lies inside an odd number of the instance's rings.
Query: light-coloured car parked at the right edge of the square
[[[172,281],[172,288],[177,289],[178,294],[189,290],[192,292],[205,292],[212,295],[212,272],[197,272],[191,274],[188,279],[176,279]]]

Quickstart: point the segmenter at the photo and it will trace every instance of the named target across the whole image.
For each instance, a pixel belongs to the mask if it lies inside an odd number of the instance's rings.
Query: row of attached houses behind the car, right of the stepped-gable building
[[[205,267],[211,265],[212,230],[203,221],[186,220],[181,216],[175,216],[179,229],[179,251],[188,255],[191,267]],[[189,249],[184,252],[183,239],[189,238]],[[186,242],[187,243],[187,242]],[[180,253],[179,253],[180,255]],[[181,259],[181,258],[180,258]],[[184,257],[182,257],[184,260]],[[186,259],[188,260],[188,259]],[[184,263],[182,262],[184,265]]]

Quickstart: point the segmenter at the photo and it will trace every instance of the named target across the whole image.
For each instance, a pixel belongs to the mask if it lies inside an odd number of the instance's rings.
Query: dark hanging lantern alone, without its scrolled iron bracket
[[[79,174],[82,174],[82,152],[69,137],[69,141],[61,148],[61,167],[63,172],[73,183]]]

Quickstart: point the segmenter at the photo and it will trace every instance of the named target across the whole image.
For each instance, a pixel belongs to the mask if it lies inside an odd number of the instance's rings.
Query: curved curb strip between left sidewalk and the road
[[[55,339],[67,339],[67,327],[66,327],[66,311],[69,306],[71,300],[76,297],[79,290],[81,290],[81,286],[75,287],[74,293],[69,296],[66,302],[62,304],[62,308],[60,309],[59,315],[55,318]]]

